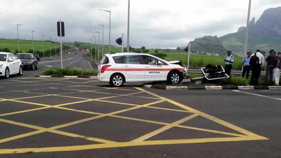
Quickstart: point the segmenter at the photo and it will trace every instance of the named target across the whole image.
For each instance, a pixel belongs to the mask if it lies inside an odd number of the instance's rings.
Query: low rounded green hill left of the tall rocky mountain
[[[223,47],[217,36],[197,38],[194,41],[191,41],[190,45],[191,52],[215,53],[220,56],[224,56],[226,52],[226,49]]]

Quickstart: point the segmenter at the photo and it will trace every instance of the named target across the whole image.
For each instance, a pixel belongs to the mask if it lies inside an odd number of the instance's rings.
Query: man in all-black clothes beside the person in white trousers
[[[266,67],[266,74],[265,74],[265,80],[264,80],[264,85],[272,85],[272,80],[273,80],[273,69],[276,67],[277,59],[276,56],[274,55],[274,50],[270,49],[269,51],[269,56],[265,59],[267,62],[267,67]]]

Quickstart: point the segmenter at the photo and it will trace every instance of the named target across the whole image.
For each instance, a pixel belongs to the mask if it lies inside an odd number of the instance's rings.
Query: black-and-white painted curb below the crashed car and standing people
[[[165,89],[165,90],[254,90],[254,89],[270,89],[270,90],[281,90],[281,86],[234,86],[234,85],[225,85],[225,86],[165,86],[165,85],[150,85],[144,84],[145,88],[156,88],[156,89]]]

